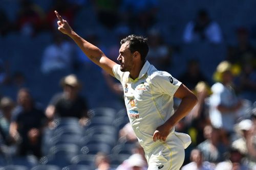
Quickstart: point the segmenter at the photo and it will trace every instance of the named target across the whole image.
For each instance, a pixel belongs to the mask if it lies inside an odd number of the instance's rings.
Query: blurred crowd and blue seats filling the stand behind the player
[[[122,87],[58,32],[57,10],[114,61],[121,38],[146,36],[147,60],[195,92],[198,104],[175,127],[192,139],[182,169],[255,170],[256,21],[227,31],[210,6],[192,6],[193,16],[175,15],[170,2],[0,2],[0,167],[147,168]],[[253,5],[246,5],[250,12]],[[178,18],[182,27],[176,41],[168,35],[178,31],[166,18]]]

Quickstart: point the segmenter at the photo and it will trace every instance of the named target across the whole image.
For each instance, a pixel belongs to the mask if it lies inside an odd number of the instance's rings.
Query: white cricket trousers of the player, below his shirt
[[[145,151],[148,170],[179,170],[184,162],[185,150],[191,143],[187,134],[174,132],[165,142]]]

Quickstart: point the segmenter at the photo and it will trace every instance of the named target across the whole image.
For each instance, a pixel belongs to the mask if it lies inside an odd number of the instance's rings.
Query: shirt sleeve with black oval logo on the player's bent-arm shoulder
[[[182,84],[180,81],[165,71],[156,72],[152,76],[151,83],[155,92],[168,94],[170,96],[173,96]]]

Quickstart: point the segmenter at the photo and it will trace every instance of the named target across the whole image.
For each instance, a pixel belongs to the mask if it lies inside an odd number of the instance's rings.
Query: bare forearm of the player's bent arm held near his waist
[[[197,104],[197,97],[194,94],[185,96],[174,115],[166,122],[169,129],[172,129],[183,117],[185,117]]]

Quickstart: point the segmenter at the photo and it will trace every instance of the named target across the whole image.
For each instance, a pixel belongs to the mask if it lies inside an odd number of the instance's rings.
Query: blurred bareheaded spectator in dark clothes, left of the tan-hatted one
[[[18,155],[41,157],[42,131],[46,124],[44,112],[34,103],[30,91],[22,88],[17,94],[18,106],[12,113],[10,135],[18,144]]]

